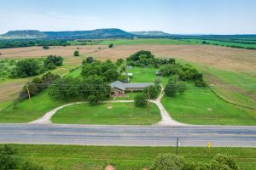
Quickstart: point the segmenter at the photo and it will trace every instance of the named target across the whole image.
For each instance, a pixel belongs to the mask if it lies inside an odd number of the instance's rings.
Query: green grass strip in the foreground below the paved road
[[[174,147],[116,147],[79,145],[10,144],[18,158],[48,167],[46,170],[103,170],[109,164],[116,169],[139,170],[150,167],[160,153],[175,153]],[[180,147],[179,156],[192,161],[209,162],[218,153],[234,156],[241,170],[256,169],[255,148]]]

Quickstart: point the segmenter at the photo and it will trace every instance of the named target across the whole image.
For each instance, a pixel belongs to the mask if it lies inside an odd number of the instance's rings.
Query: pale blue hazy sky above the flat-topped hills
[[[0,34],[119,28],[256,34],[255,0],[0,0]]]

